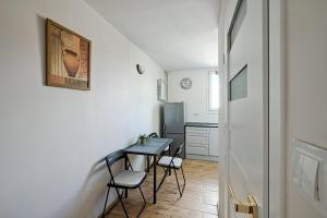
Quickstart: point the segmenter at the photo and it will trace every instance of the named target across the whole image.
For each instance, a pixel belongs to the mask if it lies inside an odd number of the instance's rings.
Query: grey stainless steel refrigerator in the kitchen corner
[[[178,143],[184,141],[184,104],[183,102],[166,102],[164,107],[164,136],[173,138],[170,155],[173,155]],[[185,158],[185,146],[182,157]]]

